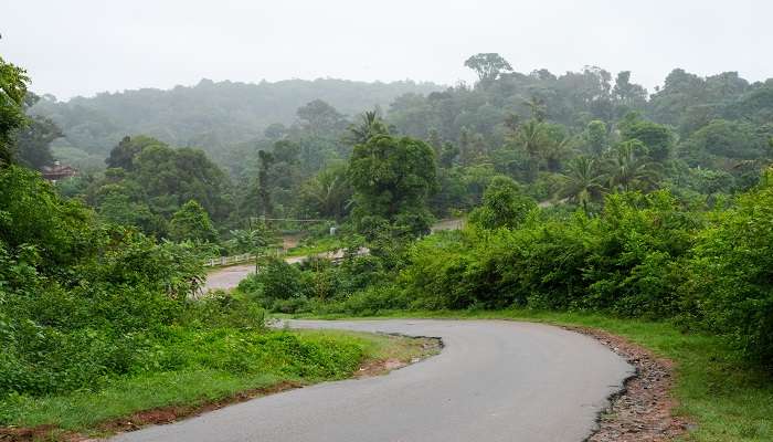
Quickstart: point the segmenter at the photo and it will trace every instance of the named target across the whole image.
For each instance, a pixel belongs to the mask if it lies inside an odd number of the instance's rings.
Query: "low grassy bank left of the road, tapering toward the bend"
[[[0,402],[0,439],[8,431],[3,425],[46,425],[45,431],[36,432],[44,440],[62,439],[65,431],[104,435],[116,428],[116,420],[140,411],[169,409],[184,415],[208,403],[229,402],[245,391],[252,397],[288,385],[343,379],[361,366],[378,368],[378,361],[407,362],[427,356],[425,344],[422,339],[331,330],[194,335],[181,330],[181,336],[172,337],[159,351],[184,361],[184,367],[116,377],[93,391],[10,397]]]

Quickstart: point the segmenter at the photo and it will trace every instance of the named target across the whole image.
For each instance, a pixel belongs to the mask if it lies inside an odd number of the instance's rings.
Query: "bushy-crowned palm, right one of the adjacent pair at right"
[[[652,190],[660,178],[660,165],[646,156],[636,154],[643,147],[638,140],[622,143],[608,161],[610,188],[628,190]]]

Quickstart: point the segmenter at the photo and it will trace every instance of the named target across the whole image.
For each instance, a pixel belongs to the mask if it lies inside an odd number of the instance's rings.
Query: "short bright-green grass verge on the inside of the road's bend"
[[[195,366],[118,377],[95,391],[6,398],[0,401],[0,440],[77,440],[74,433],[106,435],[169,422],[286,388],[358,376],[363,370],[369,371],[366,375],[382,373],[428,356],[433,348],[425,339],[353,332],[260,335],[258,344],[268,348],[264,354],[252,352],[260,367],[254,370],[234,370],[229,364]],[[218,349],[204,346],[198,351],[202,358],[227,357],[218,355]],[[382,364],[394,361],[400,364]]]

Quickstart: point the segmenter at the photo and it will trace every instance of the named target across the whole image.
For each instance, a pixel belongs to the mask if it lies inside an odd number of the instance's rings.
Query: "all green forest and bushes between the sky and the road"
[[[447,88],[204,81],[57,103],[3,62],[0,394],[189,367],[168,339],[239,337],[264,311],[595,312],[771,369],[773,80],[677,69],[650,93],[631,72],[465,65],[478,81]],[[72,149],[80,176],[34,171]],[[466,227],[430,234],[447,217]],[[290,232],[343,259],[269,253]],[[204,259],[245,252],[256,274],[193,299]]]

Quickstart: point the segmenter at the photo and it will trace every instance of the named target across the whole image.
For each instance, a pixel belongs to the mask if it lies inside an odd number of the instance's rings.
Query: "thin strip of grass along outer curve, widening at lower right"
[[[394,312],[381,317],[521,319],[600,328],[676,362],[676,413],[695,423],[685,441],[773,441],[773,379],[743,362],[713,336],[685,334],[668,323],[520,309]]]

